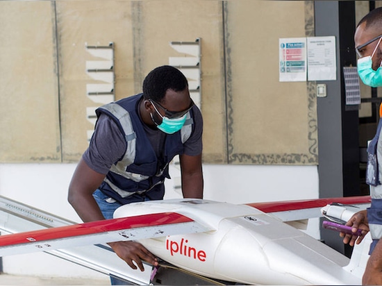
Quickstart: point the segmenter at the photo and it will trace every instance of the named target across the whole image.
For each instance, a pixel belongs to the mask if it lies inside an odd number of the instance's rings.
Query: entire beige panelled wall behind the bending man
[[[179,56],[169,42],[200,37],[204,162],[317,164],[315,85],[280,83],[278,67],[279,37],[313,35],[312,3],[0,1],[0,161],[80,158],[85,110],[100,105],[86,95],[85,43],[114,43],[121,99]]]

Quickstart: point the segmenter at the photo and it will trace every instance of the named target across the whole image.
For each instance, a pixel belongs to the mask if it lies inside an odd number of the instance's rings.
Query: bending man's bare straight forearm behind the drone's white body
[[[196,156],[180,155],[182,192],[184,198],[203,199],[203,171],[201,154]]]

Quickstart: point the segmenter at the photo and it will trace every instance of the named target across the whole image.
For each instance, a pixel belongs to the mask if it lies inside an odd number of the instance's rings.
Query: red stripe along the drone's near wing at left
[[[165,224],[180,224],[193,221],[175,212],[163,212],[158,214],[143,214],[136,217],[122,217],[119,219],[107,219],[92,221],[72,226],[60,226],[52,229],[15,233],[13,235],[1,235],[0,246],[25,244],[28,242],[42,242],[51,239],[76,237],[81,235],[93,235],[108,231],[125,230],[128,228],[143,228],[148,226],[162,226]]]

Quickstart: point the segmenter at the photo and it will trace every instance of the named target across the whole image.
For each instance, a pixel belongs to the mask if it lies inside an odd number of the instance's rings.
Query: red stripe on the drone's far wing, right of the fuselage
[[[284,212],[287,210],[303,210],[306,208],[322,208],[329,203],[354,205],[370,203],[370,196],[347,196],[346,198],[311,199],[299,201],[274,201],[270,203],[248,203],[247,205],[263,212]]]

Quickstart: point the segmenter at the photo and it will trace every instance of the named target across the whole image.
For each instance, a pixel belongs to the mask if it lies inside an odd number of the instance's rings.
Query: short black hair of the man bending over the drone
[[[163,65],[156,67],[144,78],[142,90],[144,99],[161,102],[167,90],[179,92],[188,87],[187,78],[176,67]]]

